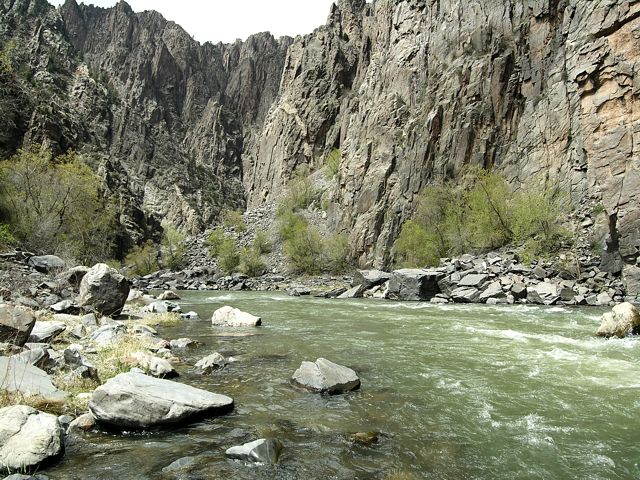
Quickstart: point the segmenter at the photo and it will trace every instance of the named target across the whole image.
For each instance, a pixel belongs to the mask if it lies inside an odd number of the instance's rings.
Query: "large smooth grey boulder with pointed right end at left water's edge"
[[[149,428],[228,413],[233,399],[142,373],[121,373],[93,392],[89,410],[102,424]]]

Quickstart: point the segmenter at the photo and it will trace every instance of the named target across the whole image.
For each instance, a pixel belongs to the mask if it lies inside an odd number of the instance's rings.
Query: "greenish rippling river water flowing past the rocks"
[[[178,380],[233,397],[234,412],[168,432],[89,434],[45,471],[52,479],[640,478],[640,341],[594,337],[603,310],[182,295],[202,320],[159,333],[203,345],[179,355]],[[211,327],[223,305],[264,326]],[[237,361],[197,375],[192,365],[214,351]],[[318,357],[355,369],[362,388],[292,388],[300,362]],[[377,443],[348,438],[369,431]],[[224,458],[265,436],[285,446],[278,465]],[[162,472],[186,456],[190,466]]]

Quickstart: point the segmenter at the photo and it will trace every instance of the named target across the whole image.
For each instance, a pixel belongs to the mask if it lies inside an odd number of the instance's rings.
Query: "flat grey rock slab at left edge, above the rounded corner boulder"
[[[0,357],[0,390],[39,396],[52,402],[63,402],[67,398],[45,371],[11,357]]]

